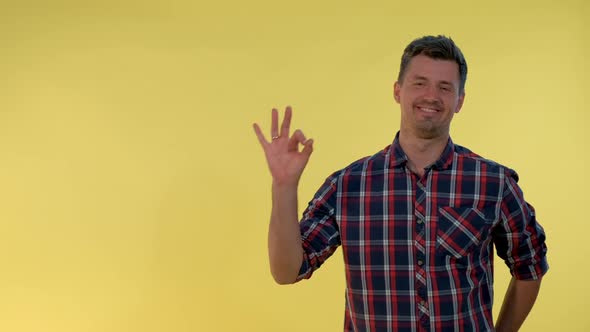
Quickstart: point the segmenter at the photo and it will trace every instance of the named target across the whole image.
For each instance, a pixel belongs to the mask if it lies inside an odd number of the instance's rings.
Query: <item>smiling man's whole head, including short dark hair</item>
[[[412,41],[402,55],[395,100],[402,109],[402,131],[419,138],[447,136],[465,98],[467,63],[445,36]]]

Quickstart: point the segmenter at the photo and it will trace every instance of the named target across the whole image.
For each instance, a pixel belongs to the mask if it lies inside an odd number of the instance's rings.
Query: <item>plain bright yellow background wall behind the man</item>
[[[469,64],[454,141],[516,169],[547,232],[522,331],[590,330],[590,7],[473,3],[0,1],[0,331],[342,330],[340,250],[272,281],[251,124],[289,104],[315,139],[303,207],[391,142],[401,52],[439,33]]]

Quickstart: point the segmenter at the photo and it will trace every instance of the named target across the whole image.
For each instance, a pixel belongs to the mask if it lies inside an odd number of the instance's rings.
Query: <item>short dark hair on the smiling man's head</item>
[[[467,80],[465,57],[451,38],[442,35],[417,38],[406,47],[402,55],[398,81],[402,81],[410,60],[420,54],[432,59],[455,61],[459,65],[459,93],[465,92],[465,81]]]

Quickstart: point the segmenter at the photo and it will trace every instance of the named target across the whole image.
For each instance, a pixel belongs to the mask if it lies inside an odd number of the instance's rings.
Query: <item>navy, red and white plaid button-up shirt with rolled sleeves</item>
[[[493,246],[517,279],[548,269],[518,176],[449,139],[420,178],[398,136],[318,190],[297,280],[342,245],[345,331],[493,331]]]

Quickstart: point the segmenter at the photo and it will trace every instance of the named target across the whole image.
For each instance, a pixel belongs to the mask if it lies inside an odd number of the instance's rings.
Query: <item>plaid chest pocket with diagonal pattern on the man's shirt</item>
[[[436,247],[439,252],[457,259],[469,255],[489,236],[493,211],[444,206],[438,209]],[[493,214],[492,214],[493,215]]]

